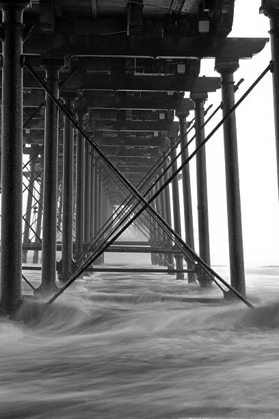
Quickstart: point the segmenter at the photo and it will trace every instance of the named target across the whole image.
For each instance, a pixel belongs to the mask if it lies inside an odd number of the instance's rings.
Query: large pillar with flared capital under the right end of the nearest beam
[[[235,105],[235,81],[233,73],[239,68],[234,62],[216,60],[215,70],[221,75],[223,115]],[[237,123],[235,112],[225,120],[224,152],[226,169],[226,199],[228,213],[228,244],[230,252],[230,283],[245,296],[245,271],[241,223],[241,199],[239,188],[239,163],[237,153]]]

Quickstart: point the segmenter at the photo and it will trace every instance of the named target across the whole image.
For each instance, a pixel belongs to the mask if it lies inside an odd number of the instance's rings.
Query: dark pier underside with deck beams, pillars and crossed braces
[[[267,15],[278,13],[271,3],[263,1]],[[267,39],[227,37],[234,0],[1,0],[0,7],[3,312],[21,304],[24,269],[41,276],[36,298],[53,302],[84,272],[113,272],[104,258],[111,252],[127,253],[127,263],[131,253],[149,253],[150,268],[138,272],[202,287],[222,281],[209,246],[209,92],[220,102],[222,93],[228,289],[246,301],[234,73]],[[207,58],[215,58],[216,77],[200,77]]]

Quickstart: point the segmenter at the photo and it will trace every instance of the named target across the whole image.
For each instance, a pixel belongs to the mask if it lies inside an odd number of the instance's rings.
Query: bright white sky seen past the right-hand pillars
[[[260,0],[235,1],[235,18],[230,36],[269,38],[269,19],[258,13]],[[236,99],[252,84],[271,60],[270,45],[252,60],[241,60],[235,81],[241,77]],[[217,76],[214,60],[202,60],[200,75]],[[220,103],[217,91],[209,95],[206,107]],[[190,114],[190,119],[192,115]],[[220,120],[207,126],[206,133]],[[239,145],[239,173],[243,223],[245,266],[278,264],[279,207],[274,140],[274,113],[271,74],[268,73],[237,111]],[[211,263],[228,264],[228,229],[226,220],[226,189],[224,174],[224,147],[222,129],[207,145],[207,170],[209,194],[209,233]],[[196,168],[191,163],[193,209],[196,220]],[[198,250],[198,238],[196,237]]]

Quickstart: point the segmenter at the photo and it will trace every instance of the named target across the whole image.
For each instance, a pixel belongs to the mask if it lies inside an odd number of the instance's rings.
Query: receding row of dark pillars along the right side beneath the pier
[[[216,60],[215,69],[221,75],[222,86],[222,110],[225,115],[233,105],[235,105],[235,82],[234,73],[239,68],[238,60],[228,62],[226,60]],[[205,138],[204,132],[204,103],[207,100],[207,94],[191,94],[191,99],[195,104],[195,129],[196,129],[196,147],[198,147]],[[189,112],[176,112],[179,120],[180,136],[181,136],[181,163],[185,162],[189,157],[187,145],[187,116]],[[170,160],[172,161],[172,173],[177,169],[176,149],[171,145]],[[227,213],[228,213],[228,240],[230,254],[230,283],[233,287],[245,296],[245,272],[243,258],[243,239],[241,227],[241,200],[239,189],[239,166],[237,153],[237,125],[235,113],[224,123],[224,154],[225,154],[225,170],[226,170],[226,197],[227,197]],[[166,166],[166,163],[165,163]],[[207,160],[206,149],[202,147],[196,155],[196,179],[197,179],[197,203],[198,203],[198,242],[199,255],[209,266],[211,264],[210,243],[209,243],[209,210],[207,198]],[[185,241],[195,249],[194,244],[194,225],[193,210],[191,201],[191,179],[189,164],[182,170],[183,185],[183,208],[185,220]],[[170,223],[170,215],[168,214],[168,199],[170,193],[168,188],[165,190],[165,196],[161,194],[161,202],[159,199],[156,203],[157,209],[164,216],[165,220]],[[181,231],[181,202],[178,190],[178,178],[172,181],[172,210],[173,210],[173,227],[180,236]],[[171,225],[171,224],[170,224]],[[183,256],[176,255],[176,269],[183,269]],[[187,269],[194,269],[194,264],[187,261]],[[211,285],[209,275],[198,269],[196,272],[197,279],[202,286]],[[188,273],[188,281],[193,283],[196,281],[196,274]],[[178,272],[177,279],[183,279],[183,273]]]

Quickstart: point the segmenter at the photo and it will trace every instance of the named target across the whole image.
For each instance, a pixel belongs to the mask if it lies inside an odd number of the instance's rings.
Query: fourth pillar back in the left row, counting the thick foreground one
[[[83,111],[77,112],[77,121],[83,123]],[[77,159],[76,159],[76,240],[75,240],[75,253],[77,256],[83,253],[84,248],[84,210],[83,210],[83,170],[84,170],[84,140],[83,136],[77,131]]]

